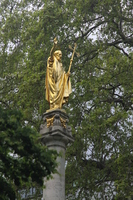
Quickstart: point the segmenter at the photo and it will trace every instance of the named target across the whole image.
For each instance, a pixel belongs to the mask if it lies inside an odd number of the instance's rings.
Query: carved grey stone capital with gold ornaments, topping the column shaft
[[[73,142],[72,129],[68,126],[69,118],[64,110],[50,110],[43,114],[43,124],[40,126],[41,141],[48,146],[49,143]]]

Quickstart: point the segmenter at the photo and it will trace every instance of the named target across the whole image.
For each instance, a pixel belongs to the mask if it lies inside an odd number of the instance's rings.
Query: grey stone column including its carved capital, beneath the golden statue
[[[40,130],[42,142],[49,149],[61,153],[57,158],[58,174],[53,174],[53,179],[44,180],[43,200],[65,200],[65,151],[67,144],[73,142],[68,116],[57,109],[44,113],[43,121]]]

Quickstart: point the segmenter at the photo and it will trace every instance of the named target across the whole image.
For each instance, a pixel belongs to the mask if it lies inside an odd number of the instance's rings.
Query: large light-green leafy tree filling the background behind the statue
[[[44,77],[52,41],[58,36],[66,70],[68,44],[77,43],[66,107],[75,137],[67,150],[68,199],[126,199],[133,192],[132,15],[132,0],[1,3],[0,101],[23,109],[38,130],[48,109]]]

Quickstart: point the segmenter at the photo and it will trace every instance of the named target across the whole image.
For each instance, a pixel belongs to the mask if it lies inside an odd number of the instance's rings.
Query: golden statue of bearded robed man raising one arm
[[[69,95],[72,92],[70,81],[70,68],[73,60],[70,60],[70,66],[65,73],[61,58],[62,52],[56,50],[57,40],[54,39],[54,45],[47,60],[47,72],[45,79],[46,100],[50,104],[50,109],[61,109],[62,105],[68,102]]]

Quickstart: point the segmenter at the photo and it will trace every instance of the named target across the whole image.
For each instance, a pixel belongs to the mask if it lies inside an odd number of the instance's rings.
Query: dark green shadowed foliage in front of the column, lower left
[[[56,172],[55,151],[41,145],[40,135],[25,125],[22,113],[0,106],[0,199],[18,199],[18,190]]]

